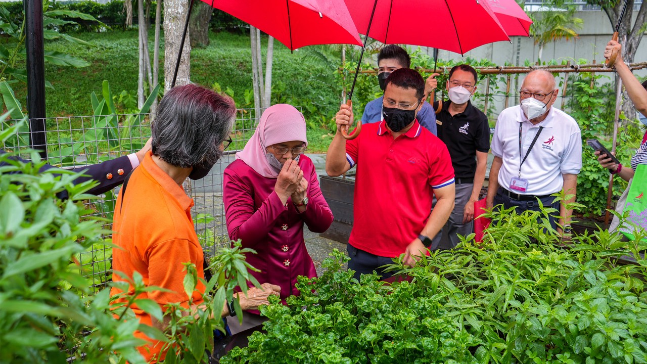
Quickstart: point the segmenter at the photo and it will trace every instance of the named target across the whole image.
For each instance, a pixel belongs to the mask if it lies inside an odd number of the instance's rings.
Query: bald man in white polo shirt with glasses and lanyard
[[[582,135],[575,119],[553,108],[558,95],[553,74],[529,73],[521,85],[521,105],[501,112],[492,137],[494,161],[490,168],[487,205],[517,211],[554,207],[565,220],[550,222],[558,233],[570,231],[572,210],[551,194],[565,191],[575,201],[577,174],[582,168]],[[557,223],[559,225],[557,225]]]

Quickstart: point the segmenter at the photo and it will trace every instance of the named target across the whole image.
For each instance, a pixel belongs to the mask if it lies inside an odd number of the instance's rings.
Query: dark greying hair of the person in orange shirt
[[[194,84],[173,87],[157,108],[153,154],[181,168],[214,165],[235,117],[234,100],[226,95]]]

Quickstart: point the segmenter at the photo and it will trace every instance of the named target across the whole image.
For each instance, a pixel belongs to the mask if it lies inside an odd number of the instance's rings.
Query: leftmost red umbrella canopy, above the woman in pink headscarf
[[[306,45],[362,45],[343,0],[202,0],[276,38]]]

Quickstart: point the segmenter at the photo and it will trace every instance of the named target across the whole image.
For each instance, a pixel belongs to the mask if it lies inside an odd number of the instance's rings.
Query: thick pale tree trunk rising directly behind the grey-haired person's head
[[[182,30],[188,6],[188,1],[164,0],[164,89],[166,91],[171,89],[171,83],[173,82],[173,72],[175,71],[177,54],[180,52]],[[190,33],[188,33],[186,34],[186,41],[184,41],[184,49],[182,49],[182,58],[175,85],[186,85],[190,82],[190,54],[191,42]]]

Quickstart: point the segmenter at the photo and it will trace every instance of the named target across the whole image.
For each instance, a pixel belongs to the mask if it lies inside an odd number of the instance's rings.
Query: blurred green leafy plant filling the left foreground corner
[[[20,127],[1,131],[0,142]],[[73,185],[80,174],[71,172],[39,172],[45,163],[35,152],[33,164],[12,155],[0,155],[8,163],[0,167],[0,361],[142,363],[133,332],[145,329],[132,310],[122,307],[123,319],[115,319],[109,288],[93,295],[82,269],[70,266],[106,233],[80,202],[94,197],[83,193],[93,183]],[[67,201],[56,198],[61,190],[69,193]]]

